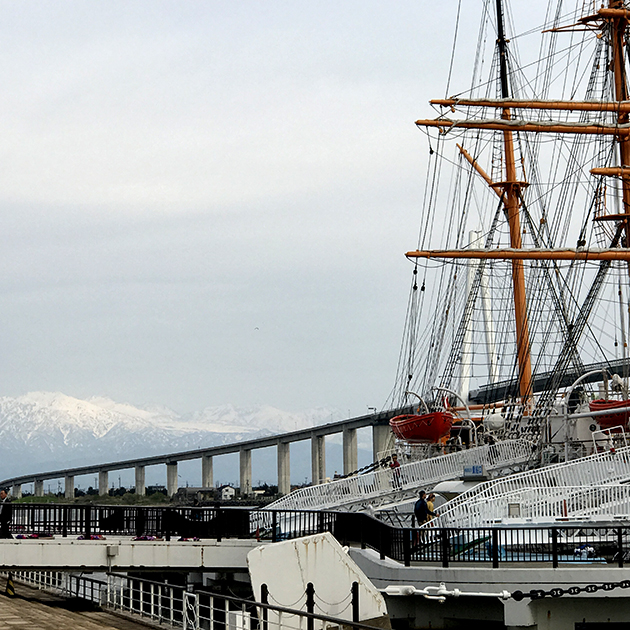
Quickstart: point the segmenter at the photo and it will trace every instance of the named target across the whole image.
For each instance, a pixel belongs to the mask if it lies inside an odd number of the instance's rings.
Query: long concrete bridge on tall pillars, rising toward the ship
[[[106,495],[109,489],[109,473],[126,469],[135,470],[136,494],[146,494],[145,468],[146,466],[164,465],[166,470],[166,489],[169,496],[173,496],[178,489],[177,465],[181,461],[201,461],[201,485],[211,488],[214,485],[213,457],[229,453],[239,454],[239,478],[241,493],[252,492],[252,451],[256,449],[275,447],[278,456],[278,492],[288,494],[291,491],[291,463],[289,447],[292,442],[310,440],[311,442],[311,471],[314,484],[322,483],[326,479],[326,443],[327,435],[341,433],[343,436],[343,472],[351,473],[358,468],[357,429],[372,428],[373,461],[379,452],[387,448],[390,437],[389,419],[399,413],[408,411],[394,410],[373,413],[339,422],[310,427],[299,431],[291,431],[266,438],[248,440],[235,444],[224,444],[210,448],[182,451],[167,455],[156,455],[139,459],[129,459],[118,462],[94,464],[78,468],[66,468],[22,475],[0,481],[0,486],[11,487],[14,498],[22,496],[22,485],[32,483],[35,496],[44,496],[44,482],[51,479],[65,480],[65,497],[74,498],[74,478],[80,475],[98,475],[99,494]]]

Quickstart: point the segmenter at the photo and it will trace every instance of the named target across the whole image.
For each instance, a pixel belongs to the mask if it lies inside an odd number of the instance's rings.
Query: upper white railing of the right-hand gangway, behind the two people
[[[542,501],[548,491],[556,488],[586,488],[626,481],[630,481],[630,447],[480,483],[443,505],[440,516],[424,527],[469,527],[491,522],[496,518],[493,512],[497,504],[507,505],[510,496],[532,489],[539,490]],[[573,491],[567,492],[563,498],[571,500]]]

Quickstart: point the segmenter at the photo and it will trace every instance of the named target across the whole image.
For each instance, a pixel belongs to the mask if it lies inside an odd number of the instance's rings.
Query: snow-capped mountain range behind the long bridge
[[[182,416],[104,397],[0,397],[0,478],[228,444],[339,419],[329,409],[289,413],[225,405]]]

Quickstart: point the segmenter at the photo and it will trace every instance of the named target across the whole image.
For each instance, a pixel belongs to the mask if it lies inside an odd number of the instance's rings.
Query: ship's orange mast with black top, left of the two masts
[[[497,46],[499,49],[499,73],[501,80],[501,98],[510,98],[507,70],[507,42],[503,28],[502,0],[496,0],[497,7]],[[504,107],[503,120],[510,120],[509,107]],[[514,157],[514,138],[512,131],[503,132],[505,151],[505,181],[503,188],[505,214],[510,227],[510,246],[521,249],[520,193],[522,183],[516,179],[516,160]],[[522,260],[512,260],[512,285],[514,287],[514,317],[516,320],[516,348],[519,370],[519,393],[523,404],[531,397],[532,365],[529,347],[529,324],[527,321],[527,292],[525,289],[525,270]]]

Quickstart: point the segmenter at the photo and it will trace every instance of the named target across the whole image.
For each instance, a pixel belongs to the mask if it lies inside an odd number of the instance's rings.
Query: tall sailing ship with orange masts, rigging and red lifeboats
[[[392,402],[418,409],[391,425],[583,456],[630,411],[630,10],[557,0],[508,36],[507,4],[482,4],[471,86],[416,122],[429,160]]]

